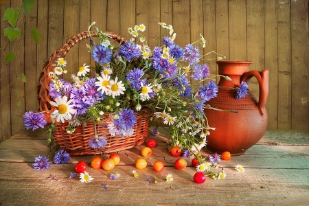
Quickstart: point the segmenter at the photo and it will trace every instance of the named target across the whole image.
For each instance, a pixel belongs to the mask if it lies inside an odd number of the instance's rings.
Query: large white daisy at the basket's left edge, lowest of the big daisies
[[[71,104],[72,100],[67,100],[67,96],[58,96],[58,98],[55,99],[56,102],[49,102],[53,106],[56,106],[56,110],[52,113],[52,118],[57,117],[57,122],[65,123],[65,120],[72,119],[72,114],[74,114],[76,111],[72,107],[75,106],[74,104]]]

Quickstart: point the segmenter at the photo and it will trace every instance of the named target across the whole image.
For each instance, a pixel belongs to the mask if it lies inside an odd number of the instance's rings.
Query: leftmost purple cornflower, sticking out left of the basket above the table
[[[41,113],[33,113],[33,111],[28,111],[23,115],[23,124],[25,128],[36,130],[37,128],[44,126],[47,124],[47,121],[44,118],[44,115]]]

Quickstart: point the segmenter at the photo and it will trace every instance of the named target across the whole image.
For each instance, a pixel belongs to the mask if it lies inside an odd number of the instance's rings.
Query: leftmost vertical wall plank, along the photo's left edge
[[[10,8],[10,1],[0,3],[1,16],[7,8]],[[15,8],[14,8],[15,10]],[[5,51],[3,48],[8,43],[8,37],[3,35],[3,31],[6,27],[10,27],[8,21],[0,21],[1,35],[0,35],[0,142],[5,139],[9,139],[12,135],[11,132],[11,104],[10,104],[10,62],[5,62],[5,56],[10,52],[10,43]]]

